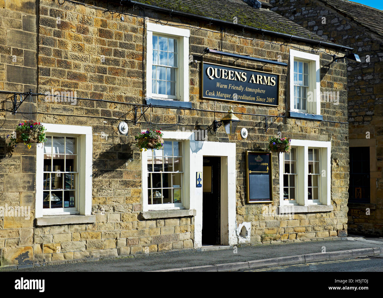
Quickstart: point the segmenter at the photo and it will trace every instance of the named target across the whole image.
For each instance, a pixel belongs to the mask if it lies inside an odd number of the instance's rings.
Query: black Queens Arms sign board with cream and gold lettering
[[[279,75],[202,62],[202,98],[278,106]]]

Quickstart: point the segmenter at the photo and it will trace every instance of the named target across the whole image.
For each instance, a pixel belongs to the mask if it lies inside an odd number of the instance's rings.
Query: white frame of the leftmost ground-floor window
[[[43,209],[43,181],[44,181],[44,145],[40,144],[36,149],[36,218],[44,215],[69,215],[80,214],[90,215],[92,212],[92,127],[65,125],[65,124],[44,124],[46,134],[54,136],[75,136],[79,140],[80,150],[78,153],[79,182],[77,210],[62,211],[62,208]]]

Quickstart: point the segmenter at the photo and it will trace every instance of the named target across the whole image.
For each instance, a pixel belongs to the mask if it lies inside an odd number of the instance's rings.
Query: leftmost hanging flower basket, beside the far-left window
[[[40,122],[24,121],[16,127],[16,138],[12,138],[9,145],[24,143],[30,149],[31,144],[44,143],[45,127]]]

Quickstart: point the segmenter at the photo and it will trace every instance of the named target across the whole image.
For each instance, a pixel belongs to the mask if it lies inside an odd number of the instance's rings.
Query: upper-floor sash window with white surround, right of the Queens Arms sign
[[[321,114],[319,55],[290,50],[290,111]]]

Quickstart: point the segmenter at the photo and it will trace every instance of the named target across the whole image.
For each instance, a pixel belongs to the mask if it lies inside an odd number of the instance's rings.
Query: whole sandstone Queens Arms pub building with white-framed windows
[[[0,265],[347,236],[354,43],[250,2],[0,0]]]

